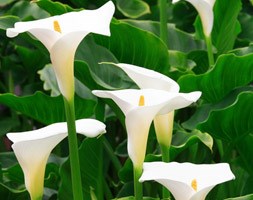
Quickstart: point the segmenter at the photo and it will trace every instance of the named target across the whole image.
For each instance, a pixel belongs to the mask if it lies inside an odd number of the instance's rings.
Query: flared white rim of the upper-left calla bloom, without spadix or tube
[[[8,37],[15,37],[28,31],[50,51],[59,38],[71,32],[110,35],[109,25],[114,10],[114,4],[109,1],[97,10],[83,10],[35,21],[17,22],[14,28],[7,29],[6,34]],[[61,33],[54,30],[54,21],[58,21]]]

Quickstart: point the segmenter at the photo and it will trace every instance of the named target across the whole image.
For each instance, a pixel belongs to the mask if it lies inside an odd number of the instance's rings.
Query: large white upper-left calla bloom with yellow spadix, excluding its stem
[[[109,1],[97,10],[70,12],[30,22],[17,22],[7,29],[8,37],[28,31],[50,52],[61,93],[70,100],[74,95],[74,56],[82,39],[89,33],[110,35],[115,7]]]

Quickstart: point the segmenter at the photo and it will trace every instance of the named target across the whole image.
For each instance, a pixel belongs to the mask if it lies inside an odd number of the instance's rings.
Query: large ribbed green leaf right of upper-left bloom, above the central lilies
[[[113,20],[111,36],[96,35],[95,40],[108,48],[121,63],[129,63],[168,73],[169,55],[165,44],[154,34]]]

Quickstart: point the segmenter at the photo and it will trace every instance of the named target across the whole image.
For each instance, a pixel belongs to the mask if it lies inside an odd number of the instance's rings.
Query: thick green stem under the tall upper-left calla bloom
[[[68,142],[69,142],[69,157],[72,179],[72,190],[74,200],[83,200],[82,180],[80,172],[80,163],[78,155],[78,143],[76,136],[75,125],[75,104],[74,98],[67,100],[64,98],[65,112],[68,125]]]

